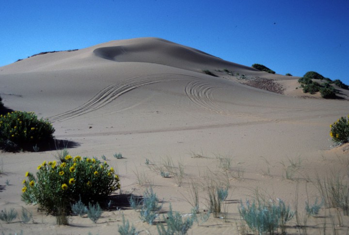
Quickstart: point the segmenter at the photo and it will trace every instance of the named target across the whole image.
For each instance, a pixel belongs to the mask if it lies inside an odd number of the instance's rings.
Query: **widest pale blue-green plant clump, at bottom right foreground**
[[[246,206],[240,204],[239,213],[251,230],[259,234],[277,234],[280,225],[282,233],[286,234],[286,222],[293,218],[294,212],[282,200],[279,203],[265,201],[246,201]]]

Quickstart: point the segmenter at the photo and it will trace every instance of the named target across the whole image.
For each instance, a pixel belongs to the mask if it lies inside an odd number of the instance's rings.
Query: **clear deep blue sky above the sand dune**
[[[1,0],[0,66],[43,51],[160,37],[278,74],[349,84],[349,0]]]

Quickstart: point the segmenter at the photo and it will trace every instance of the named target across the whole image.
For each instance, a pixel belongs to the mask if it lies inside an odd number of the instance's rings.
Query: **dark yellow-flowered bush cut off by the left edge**
[[[0,148],[5,151],[32,151],[33,146],[47,147],[55,129],[33,112],[15,111],[0,115]]]

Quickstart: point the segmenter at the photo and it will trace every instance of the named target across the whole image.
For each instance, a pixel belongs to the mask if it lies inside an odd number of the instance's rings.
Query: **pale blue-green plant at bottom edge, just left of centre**
[[[166,228],[162,223],[157,225],[159,235],[186,235],[195,221],[194,215],[195,214],[191,215],[183,221],[182,216],[178,212],[174,213],[172,211],[172,206],[170,204],[170,211],[167,213],[166,217],[163,216]]]

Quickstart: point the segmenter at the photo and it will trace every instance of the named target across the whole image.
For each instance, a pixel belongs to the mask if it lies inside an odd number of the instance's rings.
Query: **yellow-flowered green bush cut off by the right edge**
[[[348,115],[349,118],[349,115]],[[339,118],[330,125],[330,136],[336,144],[349,142],[349,120],[346,117]]]

